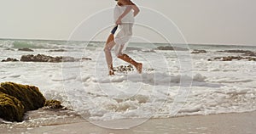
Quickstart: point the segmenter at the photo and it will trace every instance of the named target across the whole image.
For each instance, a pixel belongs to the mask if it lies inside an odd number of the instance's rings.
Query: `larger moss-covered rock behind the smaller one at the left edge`
[[[45,103],[45,98],[38,87],[16,84],[13,82],[1,83],[0,92],[6,93],[9,96],[15,97],[24,105],[25,112],[42,108]]]

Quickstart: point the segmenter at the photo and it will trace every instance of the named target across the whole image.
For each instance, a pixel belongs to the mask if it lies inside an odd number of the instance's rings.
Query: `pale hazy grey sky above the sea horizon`
[[[177,26],[186,42],[203,44],[256,45],[256,1],[255,0],[133,0],[141,8],[136,21],[141,25]],[[79,40],[90,40],[96,29],[94,40],[106,40],[113,22],[114,0],[0,0],[0,38],[68,40],[79,25],[94,17],[101,17],[79,36]],[[108,9],[106,9],[108,8]],[[102,9],[105,9],[102,11]],[[149,10],[164,16],[159,20],[154,15],[147,19]],[[102,12],[107,12],[104,15]],[[108,15],[107,15],[108,14]],[[101,22],[101,23],[100,23]],[[106,22],[106,25],[104,25]],[[81,31],[83,30],[82,27]],[[150,29],[151,28],[151,29]],[[134,35],[145,37],[145,41],[165,42],[154,29],[134,26]],[[84,28],[85,30],[85,28]],[[87,30],[87,29],[86,29]],[[87,34],[93,32],[93,34]],[[173,33],[172,33],[173,32]],[[161,31],[162,36],[175,34]],[[175,42],[173,40],[173,42]]]

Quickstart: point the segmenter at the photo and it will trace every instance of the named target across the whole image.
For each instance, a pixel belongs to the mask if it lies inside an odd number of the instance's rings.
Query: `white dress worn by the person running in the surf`
[[[126,6],[116,5],[114,8],[113,18],[114,22],[118,20],[119,16],[125,12]],[[119,56],[127,47],[128,42],[131,40],[132,36],[132,26],[134,23],[133,11],[129,12],[125,15],[125,17],[121,20],[121,24],[119,25],[119,32],[114,37],[114,42],[116,43],[114,47],[114,53],[116,56]]]

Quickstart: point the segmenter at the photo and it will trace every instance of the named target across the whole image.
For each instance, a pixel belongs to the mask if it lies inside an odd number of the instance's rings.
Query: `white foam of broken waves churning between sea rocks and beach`
[[[74,52],[73,55],[76,54]],[[5,59],[14,55],[19,59],[26,52],[8,53],[1,57]],[[48,53],[45,49],[34,53],[60,54]],[[134,70],[108,76],[105,57],[99,53],[102,53],[102,47],[86,50],[84,55],[93,60],[81,63],[3,63],[1,81],[38,86],[46,98],[61,100],[89,120],[170,117],[176,110],[179,111],[178,116],[256,110],[253,62],[210,62],[207,58],[216,56],[212,55],[214,53],[198,54],[191,57],[194,67],[189,69],[193,71],[191,77],[180,73],[179,62],[173,52],[132,51],[129,53],[131,57],[143,62],[143,74],[139,75]],[[166,59],[160,60],[158,55],[166,55]],[[161,61],[167,64],[162,65]],[[113,64],[125,63],[115,59]],[[154,70],[147,70],[152,68]],[[193,84],[189,97],[177,100],[178,92],[184,96],[189,93],[179,91],[181,87],[189,89],[188,85],[180,85],[181,82],[190,80]]]

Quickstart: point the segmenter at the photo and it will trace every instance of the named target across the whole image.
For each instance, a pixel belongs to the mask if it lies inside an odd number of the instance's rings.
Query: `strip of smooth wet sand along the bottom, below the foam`
[[[119,125],[122,124],[119,120]],[[99,123],[99,122],[98,122]],[[102,122],[100,122],[102,123]],[[104,122],[112,124],[111,121]],[[113,124],[114,125],[114,124]],[[140,126],[130,129],[113,130],[96,126],[86,120],[77,123],[40,126],[40,127],[13,127],[0,128],[1,133],[44,133],[44,134],[254,134],[256,131],[256,112],[241,114],[212,114],[185,116],[168,119],[150,119]]]

